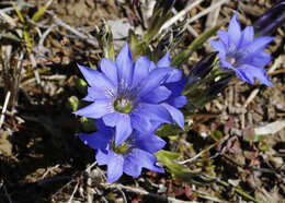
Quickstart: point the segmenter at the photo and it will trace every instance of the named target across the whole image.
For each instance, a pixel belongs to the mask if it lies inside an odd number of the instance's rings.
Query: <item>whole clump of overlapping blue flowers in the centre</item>
[[[181,95],[185,80],[171,67],[169,53],[157,64],[147,57],[134,63],[126,45],[115,62],[104,58],[99,70],[79,69],[90,85],[83,99],[92,104],[75,114],[99,119],[98,132],[81,133],[80,139],[96,150],[99,165],[107,165],[107,181],[117,180],[123,171],[137,177],[142,167],[162,172],[153,153],[164,142],[153,132],[162,123],[183,128],[184,117],[178,108],[187,101]]]

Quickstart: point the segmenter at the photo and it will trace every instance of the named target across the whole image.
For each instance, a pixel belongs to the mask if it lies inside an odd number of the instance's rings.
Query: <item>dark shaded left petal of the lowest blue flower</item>
[[[91,134],[86,134],[86,133],[79,134],[80,140],[93,150],[96,148],[105,150],[110,142],[111,136],[112,136],[111,134],[103,134],[101,132],[94,132]]]

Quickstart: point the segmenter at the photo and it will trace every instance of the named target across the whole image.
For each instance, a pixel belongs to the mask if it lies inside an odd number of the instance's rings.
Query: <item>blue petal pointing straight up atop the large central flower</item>
[[[124,85],[132,85],[134,74],[133,56],[128,45],[126,44],[116,58],[118,81]]]

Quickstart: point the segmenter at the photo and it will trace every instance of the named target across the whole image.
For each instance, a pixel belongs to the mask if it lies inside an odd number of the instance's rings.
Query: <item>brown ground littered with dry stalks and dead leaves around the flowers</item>
[[[30,17],[45,3],[22,2],[22,11]],[[138,35],[144,32],[148,8],[141,1],[144,14],[140,15],[136,2],[54,0],[47,9],[52,13],[33,25],[35,65],[24,53],[20,74],[10,72],[0,80],[1,109],[7,91],[12,93],[0,130],[0,202],[250,202],[236,189],[261,202],[285,202],[284,26],[272,34],[275,39],[266,49],[273,56],[266,70],[274,87],[260,83],[249,85],[233,79],[216,99],[195,114],[185,114],[185,131],[164,138],[168,142],[164,150],[181,153],[179,163],[215,180],[194,177],[194,181],[189,182],[173,179],[169,172],[159,175],[144,170],[139,178],[123,176],[116,183],[105,182],[106,168],[95,165],[94,152],[77,136],[84,128],[71,114],[69,98],[84,96],[76,87],[78,79],[82,77],[76,63],[98,64],[102,56],[94,33],[103,20],[114,24],[116,50],[127,41],[127,32],[121,27],[135,28]],[[185,3],[178,1],[174,10],[183,10]],[[212,3],[202,1],[189,12],[190,17]],[[233,11],[240,13],[242,26],[246,26],[274,3],[276,1],[271,0],[225,1],[218,12],[213,10],[190,24],[194,32],[186,31],[186,38],[178,50],[193,41],[195,33],[228,22]],[[0,11],[8,8],[12,8],[11,2],[0,2]],[[209,21],[215,13],[217,21]],[[1,36],[23,29],[14,12],[7,14],[16,24],[0,19]],[[41,44],[46,31],[48,35]],[[0,37],[0,43],[2,56],[9,47],[21,47],[19,41],[5,37]],[[182,67],[185,75],[209,51],[210,47],[205,44],[194,52]],[[3,57],[1,59],[4,61]],[[1,71],[3,65],[0,65]],[[16,81],[19,88],[13,85]]]

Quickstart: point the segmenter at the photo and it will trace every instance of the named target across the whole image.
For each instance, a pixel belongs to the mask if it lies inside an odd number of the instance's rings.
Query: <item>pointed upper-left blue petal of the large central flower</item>
[[[101,89],[110,89],[115,92],[114,85],[101,72],[80,64],[78,64],[78,68],[90,86],[96,86]]]

